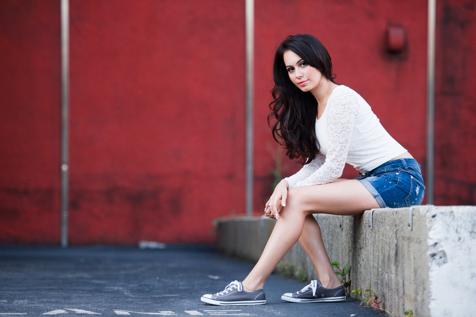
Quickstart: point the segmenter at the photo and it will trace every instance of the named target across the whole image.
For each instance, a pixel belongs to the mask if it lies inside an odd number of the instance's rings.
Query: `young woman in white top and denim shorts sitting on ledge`
[[[290,159],[304,166],[276,186],[265,215],[278,219],[258,263],[242,282],[203,295],[215,305],[265,304],[263,286],[299,240],[319,279],[281,298],[297,303],[346,300],[330,264],[313,213],[351,216],[372,208],[419,205],[425,186],[421,166],[380,124],[354,90],[337,85],[327,49],[312,35],[289,36],[273,67],[271,130]],[[339,178],[345,163],[360,177]]]

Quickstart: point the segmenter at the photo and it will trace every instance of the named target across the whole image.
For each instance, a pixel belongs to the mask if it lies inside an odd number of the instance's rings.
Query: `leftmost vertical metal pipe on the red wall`
[[[61,246],[68,246],[69,0],[61,0]]]

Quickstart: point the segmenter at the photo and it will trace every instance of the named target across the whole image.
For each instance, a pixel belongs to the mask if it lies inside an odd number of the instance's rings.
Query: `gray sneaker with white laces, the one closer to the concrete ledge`
[[[284,294],[281,299],[294,303],[343,302],[346,300],[346,290],[344,285],[332,289],[324,288],[321,281],[315,279],[296,293]]]

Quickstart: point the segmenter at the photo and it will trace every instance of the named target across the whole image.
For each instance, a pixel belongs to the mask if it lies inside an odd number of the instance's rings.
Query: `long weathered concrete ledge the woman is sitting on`
[[[380,306],[390,316],[404,316],[407,309],[417,317],[476,316],[469,304],[476,302],[475,206],[318,214],[317,221],[331,261],[350,265],[350,289],[368,284],[380,290]],[[218,248],[257,261],[274,223],[258,217],[220,221]],[[299,242],[279,267],[293,268],[300,279],[318,278]]]

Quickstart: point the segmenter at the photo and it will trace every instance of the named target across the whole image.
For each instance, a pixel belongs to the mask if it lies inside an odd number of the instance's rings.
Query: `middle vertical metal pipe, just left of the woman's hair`
[[[253,212],[254,0],[246,0],[246,214]]]

